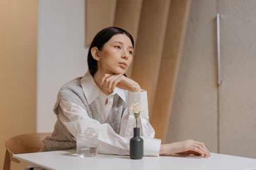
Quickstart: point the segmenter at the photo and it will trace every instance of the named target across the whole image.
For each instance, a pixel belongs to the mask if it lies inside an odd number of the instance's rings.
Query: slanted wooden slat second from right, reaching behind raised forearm
[[[169,0],[143,1],[132,79],[147,90],[151,115],[167,24]]]

